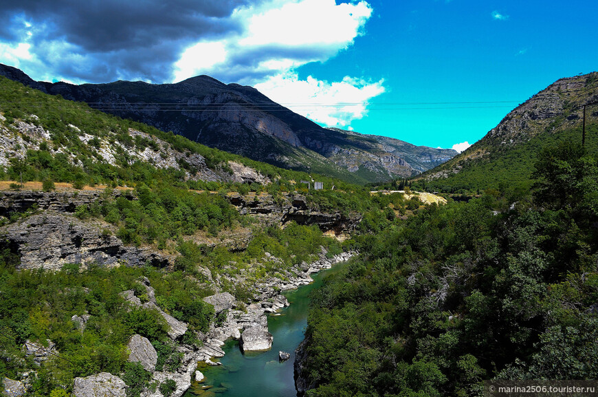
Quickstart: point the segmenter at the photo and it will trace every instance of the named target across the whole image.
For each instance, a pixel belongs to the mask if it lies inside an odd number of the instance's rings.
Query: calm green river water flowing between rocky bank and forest
[[[289,305],[279,313],[268,316],[268,330],[274,336],[272,350],[241,354],[238,341],[228,341],[218,367],[201,368],[205,382],[194,383],[184,397],[296,397],[293,378],[295,349],[303,340],[309,311],[309,292],[322,285],[322,279],[338,272],[344,263],[312,275],[307,286],[285,292]],[[278,351],[291,354],[289,360],[279,363]],[[211,387],[206,391],[202,387]]]

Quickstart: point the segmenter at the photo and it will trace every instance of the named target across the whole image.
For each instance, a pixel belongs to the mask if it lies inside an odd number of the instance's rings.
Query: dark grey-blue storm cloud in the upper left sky
[[[115,78],[168,80],[186,45],[239,30],[230,15],[257,0],[5,0],[0,38],[17,42],[23,21],[41,61],[90,82]],[[69,43],[73,57],[52,58],[48,43]],[[68,58],[71,58],[70,60]],[[77,61],[78,59],[78,61]]]

